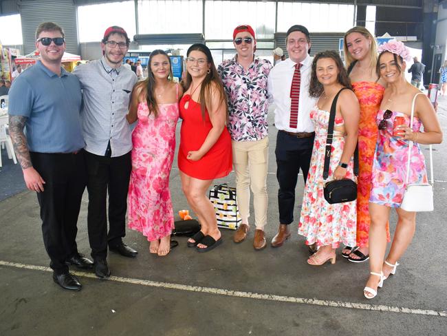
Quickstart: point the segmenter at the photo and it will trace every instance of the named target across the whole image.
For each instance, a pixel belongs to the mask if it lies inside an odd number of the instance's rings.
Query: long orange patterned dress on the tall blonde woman
[[[378,126],[375,123],[384,87],[378,83],[360,81],[352,83],[353,92],[360,103],[358,123],[358,187],[357,187],[357,244],[368,246],[369,240],[369,196],[374,160],[375,144],[378,138]],[[389,240],[389,230],[386,230]]]

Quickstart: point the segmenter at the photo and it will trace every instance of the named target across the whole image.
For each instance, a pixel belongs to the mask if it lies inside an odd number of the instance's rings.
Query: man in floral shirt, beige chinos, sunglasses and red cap
[[[239,25],[233,32],[237,54],[219,65],[228,95],[228,131],[232,138],[236,172],[237,204],[242,224],[233,240],[242,242],[250,229],[250,189],[254,199],[254,249],[265,247],[267,222],[268,92],[267,78],[272,64],[254,56],[256,39],[250,25]]]

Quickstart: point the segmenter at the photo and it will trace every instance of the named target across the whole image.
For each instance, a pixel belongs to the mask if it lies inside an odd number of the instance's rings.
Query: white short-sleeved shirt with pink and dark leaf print
[[[255,57],[248,70],[237,55],[218,67],[228,96],[228,131],[232,140],[256,141],[268,136],[267,78],[272,63]]]

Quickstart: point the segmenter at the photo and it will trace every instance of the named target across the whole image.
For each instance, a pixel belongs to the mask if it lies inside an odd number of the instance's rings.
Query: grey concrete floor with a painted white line
[[[438,115],[447,134],[447,97],[439,98]],[[271,114],[269,241],[278,224],[272,123]],[[137,258],[111,253],[110,280],[74,270],[83,290],[63,291],[47,268],[36,196],[23,191],[0,202],[0,335],[446,335],[447,272],[439,250],[447,240],[446,143],[434,152],[435,211],[417,215],[413,243],[374,300],[362,295],[367,262],[338,256],[334,265],[309,266],[304,239],[296,234],[279,249],[254,251],[253,232],[234,244],[233,231],[226,230],[222,246],[210,253],[199,254],[177,238],[179,246],[165,258],[150,255],[146,239],[128,231],[124,241],[138,249]],[[188,205],[176,162],[173,167],[177,212]],[[235,185],[234,179],[231,174],[216,183]],[[294,231],[302,196],[300,178]],[[77,242],[88,255],[86,218],[85,195]]]

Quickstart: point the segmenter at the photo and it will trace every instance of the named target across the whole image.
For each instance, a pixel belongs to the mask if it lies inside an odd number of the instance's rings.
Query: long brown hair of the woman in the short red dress
[[[223,102],[225,104],[226,113],[228,114],[228,103],[227,103],[227,97],[225,93],[225,89],[223,88],[223,84],[221,81],[221,77],[219,76],[219,72],[216,70],[216,66],[214,63],[214,60],[212,59],[212,54],[208,47],[201,43],[195,43],[191,45],[188,48],[188,51],[186,52],[186,57],[189,56],[190,52],[192,51],[199,51],[203,52],[206,55],[206,60],[210,64],[210,70],[206,74],[204,81],[201,83],[200,87],[200,93],[199,93],[199,103],[200,103],[200,109],[201,109],[201,116],[205,120],[205,111],[208,107],[211,107],[211,96],[212,96],[212,83],[217,86],[217,90],[219,91],[219,101]],[[191,75],[186,71],[186,76],[182,81],[182,86],[184,87],[184,91],[188,90],[191,83],[193,83],[193,78]]]

